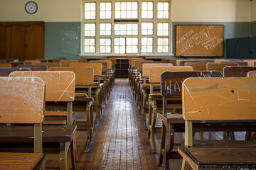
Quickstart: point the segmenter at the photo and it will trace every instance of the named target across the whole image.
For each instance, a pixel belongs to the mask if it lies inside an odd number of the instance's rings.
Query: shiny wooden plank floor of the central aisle
[[[86,130],[78,130],[76,142],[78,148],[77,169],[164,169],[158,166],[159,152],[153,154],[151,142],[146,137],[146,130],[134,101],[128,79],[116,79],[103,117],[95,128],[93,143],[89,153],[85,153]],[[244,134],[236,134],[242,140]],[[195,136],[198,138],[198,135]],[[223,140],[223,133],[213,135],[204,133],[205,139]],[[225,136],[229,139],[229,137]],[[176,134],[176,140],[183,134]],[[156,135],[159,150],[160,134]],[[171,169],[181,169],[181,160],[171,160]],[[50,162],[46,166],[54,167]]]

